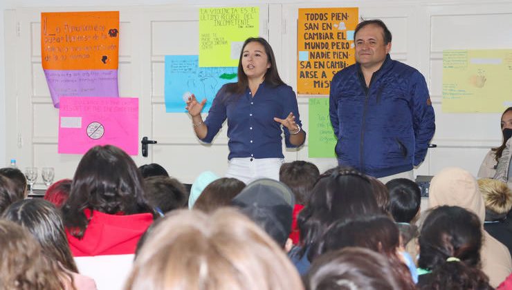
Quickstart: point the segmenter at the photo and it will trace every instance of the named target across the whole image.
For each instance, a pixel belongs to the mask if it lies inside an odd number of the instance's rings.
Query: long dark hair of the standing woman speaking
[[[268,63],[271,64],[271,67],[268,68],[266,71],[266,74],[264,76],[265,82],[267,84],[270,84],[271,86],[280,86],[284,84],[284,81],[281,80],[281,77],[279,76],[279,73],[277,72],[277,65],[275,64],[275,56],[274,52],[272,50],[271,45],[262,37],[249,37],[244,42],[244,46],[242,46],[240,51],[240,57],[238,61],[238,81],[236,83],[228,84],[226,86],[226,93],[228,95],[230,94],[243,94],[245,93],[249,81],[247,79],[247,75],[244,72],[244,66],[241,64],[241,59],[244,56],[244,48],[246,48],[246,45],[250,42],[259,42],[262,44],[262,46],[265,48],[265,53],[268,57]]]

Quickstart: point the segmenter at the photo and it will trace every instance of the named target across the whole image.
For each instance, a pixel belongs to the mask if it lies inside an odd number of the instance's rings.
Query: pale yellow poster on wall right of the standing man
[[[512,50],[444,50],[444,113],[501,113],[512,106]]]

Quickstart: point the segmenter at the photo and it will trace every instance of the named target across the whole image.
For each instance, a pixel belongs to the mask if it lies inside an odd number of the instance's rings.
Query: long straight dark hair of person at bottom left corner
[[[60,262],[68,271],[77,273],[77,267],[64,231],[59,211],[51,202],[40,198],[20,200],[11,204],[2,218],[28,229],[50,260]]]

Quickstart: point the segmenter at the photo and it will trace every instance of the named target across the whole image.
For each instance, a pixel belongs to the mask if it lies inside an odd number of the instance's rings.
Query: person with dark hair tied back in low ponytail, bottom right
[[[493,289],[480,270],[482,224],[459,206],[428,213],[419,235],[420,289]]]

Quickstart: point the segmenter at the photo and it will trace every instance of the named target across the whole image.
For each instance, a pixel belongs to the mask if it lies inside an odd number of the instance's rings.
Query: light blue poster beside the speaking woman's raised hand
[[[198,101],[206,99],[203,113],[208,112],[219,89],[237,82],[237,68],[200,68],[197,55],[165,56],[165,112],[183,113],[189,94]]]

